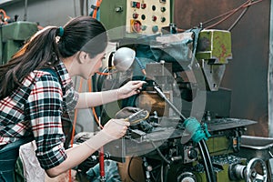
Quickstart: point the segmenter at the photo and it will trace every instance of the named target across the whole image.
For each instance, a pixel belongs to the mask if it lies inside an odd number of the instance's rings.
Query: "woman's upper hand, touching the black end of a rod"
[[[121,86],[117,90],[118,99],[123,99],[129,96],[134,96],[140,92],[145,81],[129,81],[126,85]]]

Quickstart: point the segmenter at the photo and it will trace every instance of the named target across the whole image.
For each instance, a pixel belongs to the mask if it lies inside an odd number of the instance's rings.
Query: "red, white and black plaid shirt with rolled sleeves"
[[[56,167],[66,159],[63,111],[75,108],[78,94],[63,63],[56,76],[35,70],[10,95],[0,101],[0,145],[34,137],[41,167]],[[63,96],[64,95],[64,96]]]

